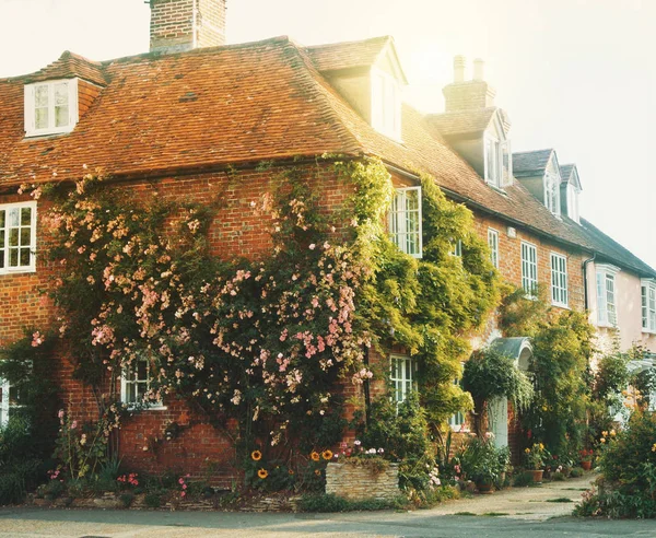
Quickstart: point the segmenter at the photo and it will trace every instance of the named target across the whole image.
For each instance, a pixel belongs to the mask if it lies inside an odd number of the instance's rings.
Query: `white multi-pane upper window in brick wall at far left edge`
[[[0,204],[0,274],[35,270],[36,202]]]

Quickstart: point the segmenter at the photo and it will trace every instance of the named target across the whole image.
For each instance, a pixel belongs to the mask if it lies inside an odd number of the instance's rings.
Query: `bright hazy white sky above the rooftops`
[[[441,112],[452,58],[485,59],[515,151],[555,148],[582,213],[656,267],[656,0],[227,0],[229,43],[395,37],[406,98]],[[0,77],[66,50],[143,52],[143,0],[0,0]]]

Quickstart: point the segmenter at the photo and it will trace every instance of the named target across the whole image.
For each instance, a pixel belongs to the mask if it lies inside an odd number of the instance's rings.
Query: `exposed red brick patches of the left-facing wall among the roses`
[[[297,167],[298,168],[298,167]],[[321,209],[341,207],[352,191],[338,179],[329,167],[307,166],[301,168],[302,176],[312,182],[319,191]],[[213,173],[186,177],[167,177],[156,182],[136,182],[129,187],[136,197],[148,199],[159,196],[177,201],[215,203],[216,217],[210,229],[210,245],[213,254],[232,258],[255,257],[271,248],[269,235],[270,218],[261,209],[266,194],[271,194],[278,185],[280,169],[239,171]],[[0,203],[30,200],[17,195],[0,195]],[[39,293],[48,282],[48,270],[43,253],[46,213],[45,203],[37,207],[37,271],[23,274],[0,274],[0,341],[10,342],[22,336],[26,325],[46,327],[51,318],[52,305]],[[339,225],[339,223],[336,223]],[[338,232],[339,233],[339,230]],[[52,375],[61,386],[65,407],[77,420],[87,421],[97,418],[96,397],[91,387],[73,378],[73,363],[65,344],[59,346],[54,356]],[[109,375],[102,387],[103,393],[120,390],[120,384],[109,386]],[[178,469],[191,476],[204,476],[209,464],[220,464],[213,482],[230,487],[235,475],[235,453],[233,442],[202,417],[192,412],[183,401],[174,398],[164,401],[164,410],[147,410],[125,419],[119,431],[119,456],[136,470],[162,472]],[[57,409],[52,409],[56,420]],[[173,441],[163,441],[167,423],[175,421],[181,426]],[[234,424],[230,428],[234,433]],[[145,447],[145,449],[144,449]]]

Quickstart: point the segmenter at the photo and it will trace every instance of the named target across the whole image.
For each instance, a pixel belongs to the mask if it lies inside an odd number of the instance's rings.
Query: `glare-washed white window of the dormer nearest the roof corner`
[[[387,137],[401,139],[401,92],[397,80],[372,69],[372,127]]]

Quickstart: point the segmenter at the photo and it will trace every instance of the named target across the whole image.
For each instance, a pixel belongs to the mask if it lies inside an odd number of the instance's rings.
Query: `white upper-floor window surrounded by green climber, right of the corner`
[[[389,234],[402,252],[421,258],[421,187],[396,190],[389,210]]]

